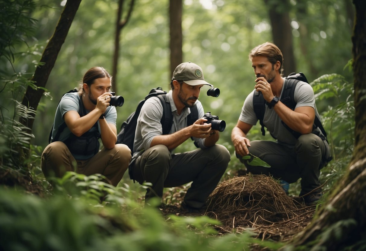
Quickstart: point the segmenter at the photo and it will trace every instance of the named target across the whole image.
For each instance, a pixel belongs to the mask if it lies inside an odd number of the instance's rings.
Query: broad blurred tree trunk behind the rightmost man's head
[[[292,28],[290,25],[290,16],[288,15],[288,10],[291,5],[288,0],[281,2],[264,0],[264,2],[268,6],[273,43],[280,48],[283,54],[283,75],[287,76],[291,72],[296,72]]]

